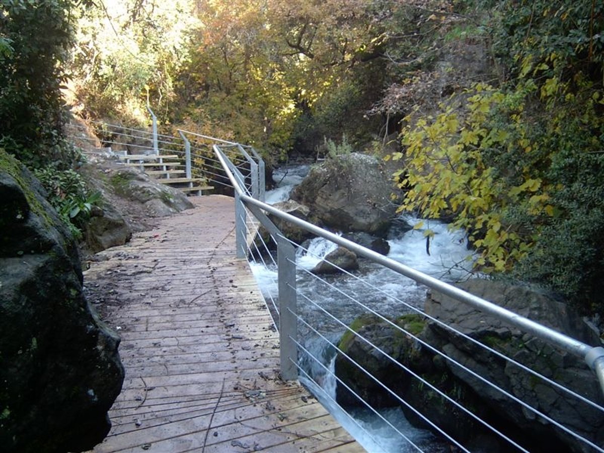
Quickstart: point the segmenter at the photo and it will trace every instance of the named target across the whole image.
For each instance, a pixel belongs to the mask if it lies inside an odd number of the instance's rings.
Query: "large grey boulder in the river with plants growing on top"
[[[376,158],[351,153],[313,166],[292,199],[335,230],[385,234],[396,211],[393,191]]]

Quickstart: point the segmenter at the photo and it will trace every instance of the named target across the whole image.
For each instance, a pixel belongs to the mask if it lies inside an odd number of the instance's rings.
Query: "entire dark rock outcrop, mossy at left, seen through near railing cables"
[[[471,280],[460,286],[472,294],[567,333],[587,344],[598,345],[600,342],[597,332],[551,295],[525,286],[486,280]],[[429,295],[425,310],[459,332],[477,339],[590,400],[602,403],[597,379],[582,359],[556,350],[541,340],[442,294]],[[426,321],[420,315],[405,315],[393,323],[404,327],[442,353],[428,349],[419,341],[397,330],[392,324],[373,317],[359,318],[353,326],[357,332],[393,356],[404,367],[471,408],[474,413],[488,420],[504,434],[528,446],[530,451],[583,452],[589,449],[547,420],[493,390],[490,385],[447,358],[452,358],[477,372],[487,381],[538,408],[587,439],[598,444],[603,442],[604,414],[590,405],[548,385],[539,377],[488,352],[459,333],[452,332],[438,323]],[[426,384],[420,384],[410,373],[377,352],[367,342],[347,333],[340,345],[371,374],[383,379],[391,390],[384,390],[343,355],[339,355],[336,359],[336,374],[368,402],[378,407],[400,405],[411,423],[429,427],[414,411],[400,403],[400,397],[434,420],[445,432],[468,445],[477,437],[489,439],[489,442],[494,444],[499,442],[483,425],[443,399]],[[356,398],[342,386],[338,387],[337,395],[338,400],[345,405],[358,405]],[[506,446],[502,443],[500,448],[500,451],[506,451]]]

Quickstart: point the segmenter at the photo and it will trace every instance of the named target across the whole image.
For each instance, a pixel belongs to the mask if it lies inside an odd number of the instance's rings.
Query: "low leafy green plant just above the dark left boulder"
[[[92,206],[100,202],[101,193],[89,193],[82,176],[71,169],[46,167],[34,173],[48,191],[48,201],[61,220],[69,226],[76,239],[81,239],[82,228],[90,218]]]

